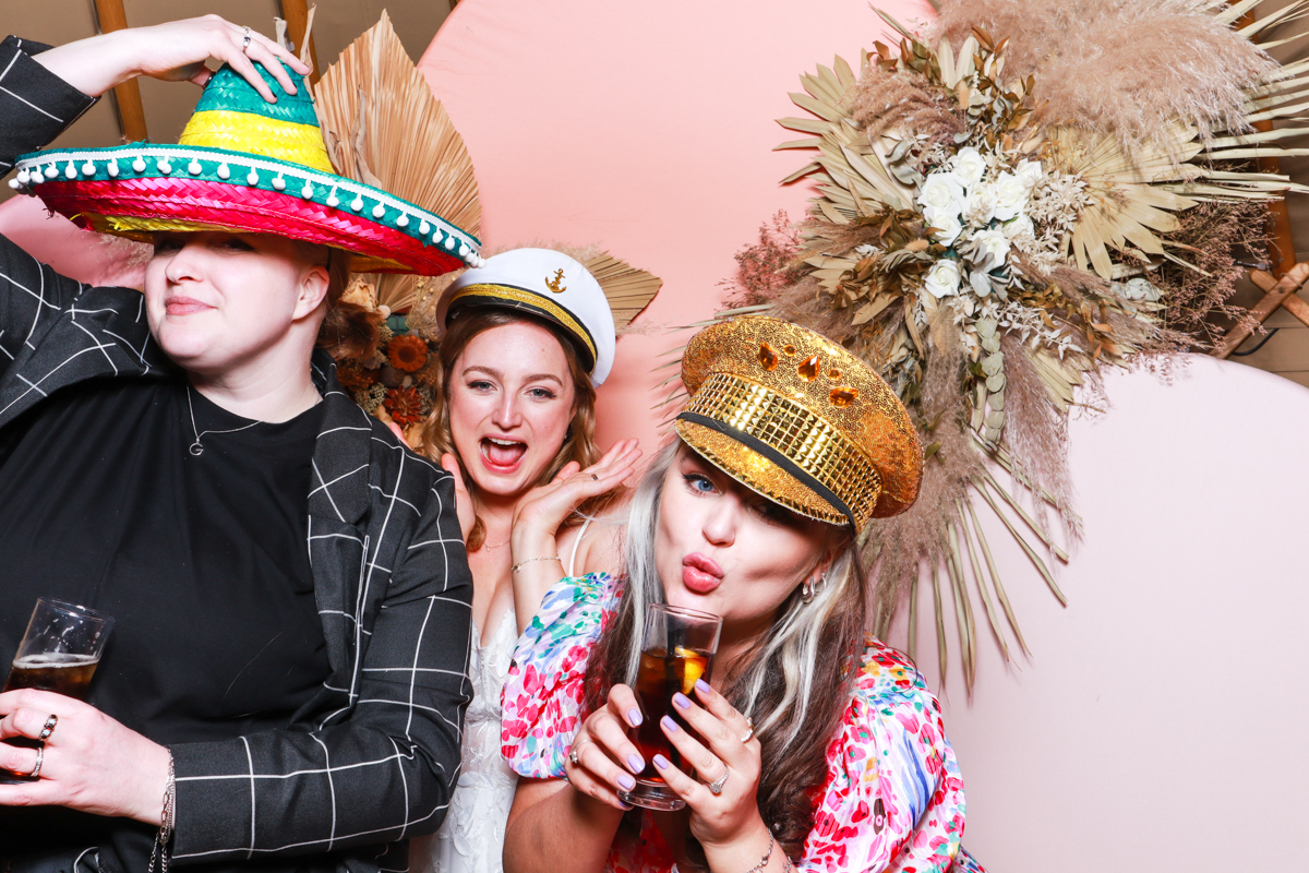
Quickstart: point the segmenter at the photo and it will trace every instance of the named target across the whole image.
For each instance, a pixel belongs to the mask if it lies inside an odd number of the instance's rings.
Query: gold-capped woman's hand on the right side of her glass
[[[742,840],[753,846],[759,842],[761,828],[764,828],[757,800],[762,747],[746,717],[703,679],[695,683],[695,696],[703,707],[682,694],[673,695],[673,705],[704,742],[668,716],[660,728],[700,780],[682,772],[662,755],[654,757],[654,766],[668,787],[691,809],[691,834],[707,853]],[[720,785],[720,793],[709,791],[709,784]],[[758,848],[762,851],[763,847]]]

